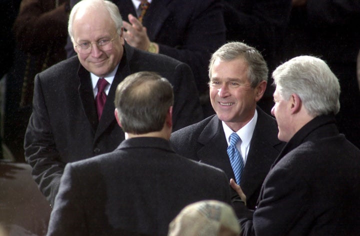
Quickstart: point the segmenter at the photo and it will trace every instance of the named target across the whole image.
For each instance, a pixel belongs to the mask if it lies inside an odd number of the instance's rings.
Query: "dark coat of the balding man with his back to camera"
[[[184,206],[204,199],[231,204],[223,171],[176,154],[163,138],[130,138],[66,165],[47,235],[167,235]]]

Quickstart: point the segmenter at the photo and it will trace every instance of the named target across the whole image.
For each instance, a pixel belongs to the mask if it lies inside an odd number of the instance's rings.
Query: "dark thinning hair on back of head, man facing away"
[[[155,72],[136,72],[117,85],[114,104],[124,132],[160,131],[173,105],[172,86]]]

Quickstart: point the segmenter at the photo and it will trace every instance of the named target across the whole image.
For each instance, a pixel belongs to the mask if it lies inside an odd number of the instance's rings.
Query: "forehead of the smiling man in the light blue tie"
[[[216,58],[211,68],[210,79],[247,80],[247,69],[247,62],[242,58],[229,61]]]

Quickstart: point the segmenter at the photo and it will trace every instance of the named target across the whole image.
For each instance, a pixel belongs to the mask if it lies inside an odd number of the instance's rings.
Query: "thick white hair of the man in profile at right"
[[[340,85],[328,65],[314,56],[297,56],[278,66],[273,83],[288,100],[297,94],[309,115],[336,114],[340,109]]]

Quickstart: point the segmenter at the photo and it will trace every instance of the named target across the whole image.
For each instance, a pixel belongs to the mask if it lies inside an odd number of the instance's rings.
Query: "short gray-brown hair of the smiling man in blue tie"
[[[254,47],[243,42],[228,42],[218,48],[211,56],[209,63],[209,78],[215,59],[231,61],[243,58],[248,64],[247,78],[252,87],[256,87],[262,80],[267,81],[268,68],[261,53]]]

